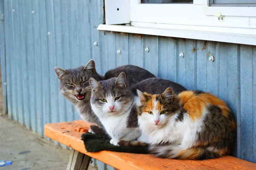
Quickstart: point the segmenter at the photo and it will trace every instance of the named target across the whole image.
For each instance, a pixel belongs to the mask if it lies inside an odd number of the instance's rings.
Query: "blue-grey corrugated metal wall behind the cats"
[[[10,118],[43,136],[46,123],[79,119],[58,93],[55,66],[73,68],[93,58],[104,74],[133,64],[227,102],[237,121],[233,155],[256,162],[256,46],[97,31],[104,23],[103,0],[3,2]]]

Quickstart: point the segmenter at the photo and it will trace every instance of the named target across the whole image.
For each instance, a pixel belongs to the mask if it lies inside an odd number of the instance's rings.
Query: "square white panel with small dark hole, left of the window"
[[[130,23],[129,0],[105,0],[105,22],[106,24]]]

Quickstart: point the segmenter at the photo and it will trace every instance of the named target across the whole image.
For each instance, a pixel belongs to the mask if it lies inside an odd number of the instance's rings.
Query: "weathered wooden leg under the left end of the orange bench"
[[[67,170],[87,170],[91,157],[77,150],[70,151],[70,159],[67,164]]]

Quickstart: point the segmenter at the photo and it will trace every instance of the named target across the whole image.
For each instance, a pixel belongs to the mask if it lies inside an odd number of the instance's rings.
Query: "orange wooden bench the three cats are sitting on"
[[[161,159],[150,154],[118,153],[101,151],[88,153],[81,135],[90,124],[78,120],[74,122],[49,123],[44,126],[44,134],[57,142],[72,147],[67,170],[87,169],[90,159],[95,158],[120,170],[256,170],[256,164],[233,156],[203,161]]]

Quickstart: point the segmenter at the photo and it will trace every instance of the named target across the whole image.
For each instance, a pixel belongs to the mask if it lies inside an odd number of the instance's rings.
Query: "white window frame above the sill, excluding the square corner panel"
[[[208,7],[207,5],[193,4],[138,4],[135,1],[137,2],[137,0],[130,2],[131,22],[256,28],[256,17],[253,17],[256,14],[256,7],[248,7],[251,8],[249,13],[252,17],[225,16],[224,22],[220,22],[218,17],[214,16],[215,10],[212,8],[230,9],[228,12],[231,15],[231,8],[233,7]],[[247,10],[247,7],[236,8],[241,8],[242,12]],[[237,9],[237,13],[239,13],[239,9]],[[255,9],[254,14],[253,9]],[[221,15],[229,14],[222,11]]]

